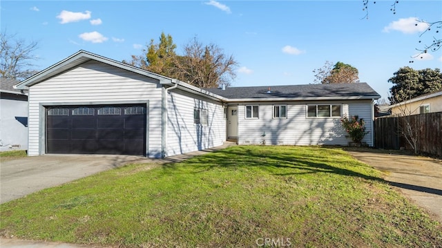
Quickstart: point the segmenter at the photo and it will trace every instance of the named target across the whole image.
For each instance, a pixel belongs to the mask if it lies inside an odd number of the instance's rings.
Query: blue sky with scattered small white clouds
[[[36,69],[78,50],[110,59],[141,55],[151,39],[170,34],[177,53],[193,37],[214,43],[240,66],[233,86],[312,84],[312,70],[342,61],[387,98],[399,68],[441,68],[442,49],[414,59],[415,19],[442,20],[442,1],[1,1],[1,32],[39,42]],[[423,24],[421,24],[423,25]],[[425,28],[425,27],[423,27]],[[440,34],[440,33],[439,33]],[[439,36],[440,38],[440,36]]]

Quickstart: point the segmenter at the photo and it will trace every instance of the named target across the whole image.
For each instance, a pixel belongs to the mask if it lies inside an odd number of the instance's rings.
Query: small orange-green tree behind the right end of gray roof
[[[332,67],[332,62],[325,61],[321,68],[313,70],[316,73],[314,82],[316,84],[340,84],[356,83],[359,81],[358,69],[338,61]]]

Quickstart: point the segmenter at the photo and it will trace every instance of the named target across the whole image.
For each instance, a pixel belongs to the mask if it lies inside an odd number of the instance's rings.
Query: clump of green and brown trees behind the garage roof
[[[200,88],[229,85],[236,77],[238,62],[216,44],[204,45],[194,37],[184,45],[183,55],[177,55],[175,48],[171,35],[163,32],[158,44],[152,39],[142,55],[132,55],[131,61],[123,62]]]

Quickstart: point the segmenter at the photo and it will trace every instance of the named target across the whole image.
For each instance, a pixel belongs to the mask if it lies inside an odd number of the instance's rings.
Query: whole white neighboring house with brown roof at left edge
[[[28,95],[0,78],[0,151],[28,149]]]

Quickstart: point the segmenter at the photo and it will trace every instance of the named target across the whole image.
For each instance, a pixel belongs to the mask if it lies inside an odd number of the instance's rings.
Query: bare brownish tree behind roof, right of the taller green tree
[[[196,37],[184,46],[184,55],[177,57],[175,75],[178,79],[200,88],[216,88],[230,85],[236,77],[238,62],[232,55],[225,55],[215,45],[203,45]]]

